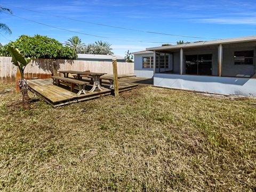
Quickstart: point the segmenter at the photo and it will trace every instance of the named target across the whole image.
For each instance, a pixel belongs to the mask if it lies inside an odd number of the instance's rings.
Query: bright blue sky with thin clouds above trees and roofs
[[[43,2],[43,3],[42,3]],[[107,38],[71,33],[27,20],[0,14],[0,22],[8,25],[12,35],[0,35],[0,42],[15,41],[20,35],[47,35],[61,43],[77,35],[83,43],[107,41],[112,44],[114,53],[124,56],[125,51],[141,51],[146,47],[161,46],[166,42],[175,43],[209,41],[214,38],[232,38],[256,35],[255,1],[18,1],[1,0],[0,5],[10,8],[14,15],[47,25],[64,28]],[[30,9],[44,14],[20,9]],[[52,17],[58,15],[58,17]],[[156,31],[166,34],[195,36],[202,38],[179,37],[123,30],[85,22],[71,21],[62,17],[96,22],[105,25],[126,27],[138,30]]]

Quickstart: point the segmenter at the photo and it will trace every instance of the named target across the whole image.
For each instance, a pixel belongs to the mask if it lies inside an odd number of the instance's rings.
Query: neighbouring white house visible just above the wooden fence
[[[113,55],[100,55],[100,54],[77,54],[78,58],[76,60],[83,61],[111,61]],[[117,62],[125,62],[125,59],[121,56],[115,55]]]

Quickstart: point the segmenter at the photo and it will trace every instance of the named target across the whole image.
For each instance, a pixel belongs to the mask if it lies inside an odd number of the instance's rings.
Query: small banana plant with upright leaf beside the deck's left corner
[[[24,78],[24,69],[28,65],[28,63],[31,61],[32,58],[25,58],[18,49],[14,49],[14,47],[12,46],[8,46],[7,51],[9,51],[12,56],[13,65],[17,66],[20,70],[21,78],[19,78],[18,80],[18,85],[19,85],[20,92],[22,93],[23,108],[29,109],[30,104],[29,104],[29,96],[28,96],[28,83]]]

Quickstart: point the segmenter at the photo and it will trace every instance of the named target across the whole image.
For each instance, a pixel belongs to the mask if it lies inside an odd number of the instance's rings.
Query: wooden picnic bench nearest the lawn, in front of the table
[[[78,86],[78,93],[77,95],[80,95],[82,92],[85,94],[85,85],[89,84],[85,81],[80,81],[78,79],[68,78],[68,77],[59,77],[59,76],[52,76],[53,84],[54,85],[60,85],[60,83],[70,86],[70,91],[74,91],[74,86]]]

